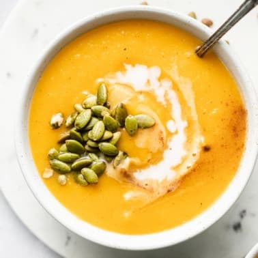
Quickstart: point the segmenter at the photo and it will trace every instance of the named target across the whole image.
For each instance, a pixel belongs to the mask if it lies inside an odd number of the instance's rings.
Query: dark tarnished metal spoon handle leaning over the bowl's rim
[[[221,25],[211,36],[208,38],[197,50],[195,53],[199,57],[203,57],[205,53],[220,40],[220,38],[227,32],[235,23],[238,23],[238,20],[243,18],[250,10],[252,10],[258,4],[258,0],[246,0],[238,10],[236,10],[226,21]]]

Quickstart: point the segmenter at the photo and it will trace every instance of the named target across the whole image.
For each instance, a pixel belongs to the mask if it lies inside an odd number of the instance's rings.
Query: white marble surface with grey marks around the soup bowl
[[[18,91],[24,86],[24,78],[42,48],[62,29],[92,12],[119,5],[138,4],[140,1],[98,0],[92,3],[85,0],[21,0],[3,24],[16,2],[16,0],[0,0],[0,112],[3,121],[0,128],[2,135],[0,188],[7,200],[5,201],[0,194],[0,257],[52,258],[59,255],[74,258],[244,257],[258,242],[258,165],[255,166],[254,173],[240,199],[223,218],[192,240],[162,250],[126,252],[93,244],[59,225],[42,209],[27,188],[16,161],[12,141],[15,107],[10,106],[10,103],[15,103],[18,98]],[[149,1],[152,5],[183,13],[194,10],[199,18],[212,18],[214,29],[241,2],[240,0],[218,0],[209,3],[201,0]],[[250,12],[227,35],[227,40],[242,59],[256,87],[258,87],[257,12],[257,9]],[[246,44],[248,48],[245,51]]]

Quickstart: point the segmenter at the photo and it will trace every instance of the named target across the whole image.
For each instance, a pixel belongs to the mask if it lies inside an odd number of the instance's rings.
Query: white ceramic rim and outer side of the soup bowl
[[[231,48],[225,44],[225,42],[219,42],[214,47],[214,51],[225,63],[225,66],[227,66],[231,74],[233,74],[235,81],[237,81],[248,111],[246,149],[238,172],[231,181],[231,184],[229,184],[225,192],[223,192],[223,195],[221,195],[213,205],[205,210],[205,212],[202,212],[199,216],[193,218],[184,225],[152,234],[125,235],[113,233],[90,225],[74,216],[74,214],[63,207],[63,205],[61,205],[61,203],[59,203],[59,201],[57,201],[57,199],[55,199],[51,192],[46,188],[31,156],[27,121],[30,101],[33,96],[33,89],[35,88],[38,78],[42,74],[42,71],[48,62],[51,61],[59,50],[71,40],[100,25],[111,23],[116,20],[132,18],[159,20],[164,23],[169,23],[188,31],[201,40],[207,39],[212,33],[212,31],[205,27],[205,25],[202,25],[197,20],[186,15],[178,14],[170,10],[141,5],[100,12],[78,21],[78,23],[69,27],[64,33],[61,33],[61,35],[59,35],[52,44],[46,48],[46,51],[42,51],[42,57],[37,63],[35,63],[31,72],[29,72],[26,88],[23,91],[23,96],[19,104],[15,141],[18,160],[27,184],[31,188],[36,199],[38,199],[46,211],[49,212],[56,220],[74,233],[81,235],[83,238],[87,238],[88,240],[105,246],[128,250],[147,250],[170,246],[192,238],[215,223],[216,220],[229,210],[229,207],[231,207],[235,200],[238,199],[246,185],[246,182],[248,181],[248,178],[250,177],[257,157],[256,126],[258,113],[255,91],[246,71],[242,67],[238,58],[235,57],[235,53],[231,51]]]

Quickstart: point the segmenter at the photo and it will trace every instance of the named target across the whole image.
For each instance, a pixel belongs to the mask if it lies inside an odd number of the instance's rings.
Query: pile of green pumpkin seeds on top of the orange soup
[[[59,175],[58,182],[66,184],[63,174],[74,172],[74,180],[81,186],[98,183],[98,177],[106,170],[106,162],[117,167],[127,154],[117,149],[121,137],[119,128],[125,128],[130,136],[138,128],[154,126],[153,117],[146,114],[128,115],[125,104],[119,103],[111,111],[106,85],[100,83],[96,96],[89,94],[82,104],[74,104],[74,112],[64,123],[66,132],[59,135],[59,150],[48,152],[51,168]],[[51,117],[51,127],[63,124],[63,114]]]

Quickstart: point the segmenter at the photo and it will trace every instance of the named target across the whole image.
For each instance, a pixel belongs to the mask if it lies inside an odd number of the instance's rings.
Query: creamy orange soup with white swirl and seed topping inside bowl
[[[29,140],[44,184],[82,220],[127,234],[186,223],[222,195],[246,139],[246,109],[223,63],[152,20],[93,29],[48,63]],[[51,151],[49,151],[51,149]]]

